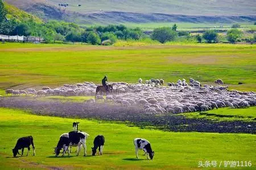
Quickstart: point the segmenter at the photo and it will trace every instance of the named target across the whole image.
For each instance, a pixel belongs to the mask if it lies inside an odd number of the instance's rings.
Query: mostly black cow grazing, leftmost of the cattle
[[[16,157],[17,154],[19,154],[19,150],[22,150],[22,155],[23,156],[23,151],[24,148],[27,147],[27,155],[28,152],[30,151],[30,145],[32,145],[32,148],[34,150],[34,156],[35,156],[35,146],[34,146],[34,142],[33,142],[33,137],[32,136],[28,136],[28,137],[22,137],[19,138],[16,146],[13,148],[13,156]],[[19,154],[20,155],[20,154]]]

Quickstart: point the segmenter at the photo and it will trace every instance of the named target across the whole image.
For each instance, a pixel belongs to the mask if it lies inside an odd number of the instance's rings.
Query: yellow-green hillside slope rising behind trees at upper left
[[[28,14],[27,12],[25,12],[23,10],[19,10],[19,8],[16,8],[13,5],[9,5],[9,4],[5,3],[5,8],[7,10],[7,18],[8,19],[15,18],[19,22],[24,22],[28,19],[34,20],[35,23],[43,22],[43,20],[38,18],[37,16]]]

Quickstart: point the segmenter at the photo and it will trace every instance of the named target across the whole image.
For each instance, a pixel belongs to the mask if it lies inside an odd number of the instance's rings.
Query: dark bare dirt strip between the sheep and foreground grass
[[[34,114],[57,117],[96,118],[105,121],[130,122],[141,128],[148,126],[168,131],[199,131],[217,133],[251,133],[256,132],[256,122],[221,121],[190,119],[174,114],[148,115],[142,108],[124,108],[120,105],[106,103],[63,103],[60,101],[39,101],[26,97],[1,97],[0,107],[30,109]],[[250,125],[250,126],[249,126]]]

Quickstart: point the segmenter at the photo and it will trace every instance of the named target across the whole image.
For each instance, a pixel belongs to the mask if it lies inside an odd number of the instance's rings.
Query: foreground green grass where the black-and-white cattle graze
[[[255,168],[255,135],[218,133],[173,133],[159,130],[139,129],[124,124],[110,124],[93,120],[35,116],[23,111],[0,108],[0,164],[5,168],[89,168],[89,169],[190,169],[203,162],[251,161]],[[88,156],[55,158],[53,147],[59,136],[72,130],[72,122],[80,121],[80,130],[90,134],[86,145]],[[104,155],[90,156],[96,135],[105,136]],[[11,149],[19,137],[32,135],[36,156],[13,158]],[[133,139],[146,138],[155,151],[153,160],[139,152],[135,159]],[[8,142],[6,142],[8,141]],[[75,149],[73,148],[73,151]],[[26,149],[24,153],[26,153]],[[247,167],[248,168],[248,167]],[[243,167],[242,169],[245,169]]]

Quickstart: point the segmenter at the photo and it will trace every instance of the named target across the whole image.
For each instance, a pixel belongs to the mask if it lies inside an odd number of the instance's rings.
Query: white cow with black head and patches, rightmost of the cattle
[[[148,142],[146,139],[135,138],[134,146],[135,146],[135,154],[137,156],[137,159],[139,159],[139,156],[138,156],[139,150],[144,151],[144,155],[147,155],[147,159],[149,159],[148,156],[150,157],[150,159],[153,159],[155,152],[152,151],[150,142]]]

